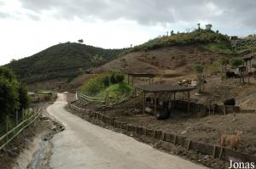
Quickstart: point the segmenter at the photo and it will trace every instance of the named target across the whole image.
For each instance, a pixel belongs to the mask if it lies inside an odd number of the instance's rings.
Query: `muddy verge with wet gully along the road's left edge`
[[[49,140],[64,128],[61,123],[48,117],[46,113],[48,105],[41,104],[42,117],[0,151],[1,169],[50,168],[52,144]]]

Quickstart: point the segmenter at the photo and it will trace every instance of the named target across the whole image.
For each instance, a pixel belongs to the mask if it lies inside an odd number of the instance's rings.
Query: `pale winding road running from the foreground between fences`
[[[66,95],[60,93],[55,104],[47,109],[66,127],[52,140],[50,166],[53,168],[206,168],[160,152],[124,134],[92,125],[68,113],[64,109],[66,104]]]

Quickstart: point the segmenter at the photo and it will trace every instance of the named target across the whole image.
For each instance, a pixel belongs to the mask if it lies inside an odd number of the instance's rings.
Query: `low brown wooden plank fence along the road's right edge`
[[[108,115],[103,115],[92,110],[81,109],[73,103],[69,103],[69,107],[71,110],[76,110],[82,113],[83,115],[90,115],[90,117],[102,121],[103,123],[108,124],[110,126],[123,129],[127,132],[134,132],[137,133],[138,135],[144,135],[147,136],[148,138],[159,139],[168,143],[181,145],[185,149],[192,149],[201,152],[204,155],[211,155],[212,158],[218,158],[219,160],[229,161],[230,157],[233,157],[243,162],[256,162],[256,156],[254,155],[246,155],[232,149],[221,148],[218,145],[196,142],[190,140],[189,138],[178,136],[176,134],[172,134],[169,132],[152,130],[146,127],[138,127],[133,126],[131,124],[126,124],[122,121],[116,121],[115,118],[109,117]]]

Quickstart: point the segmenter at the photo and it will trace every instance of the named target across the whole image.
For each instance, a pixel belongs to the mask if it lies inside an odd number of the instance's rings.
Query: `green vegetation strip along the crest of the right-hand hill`
[[[131,48],[130,51],[149,51],[156,48],[192,44],[219,54],[241,54],[252,48],[256,51],[256,41],[253,43],[253,46],[247,46],[245,43],[244,45],[241,45],[240,48],[236,48],[232,46],[233,41],[230,41],[230,38],[227,35],[211,30],[195,30],[189,33],[172,34],[169,37],[156,37],[142,45]]]

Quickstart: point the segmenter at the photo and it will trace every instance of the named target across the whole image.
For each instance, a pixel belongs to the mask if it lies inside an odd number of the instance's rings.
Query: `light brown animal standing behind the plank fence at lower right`
[[[225,144],[230,144],[230,149],[233,149],[237,145],[241,144],[241,131],[237,131],[235,134],[221,134],[220,145],[224,147]]]

